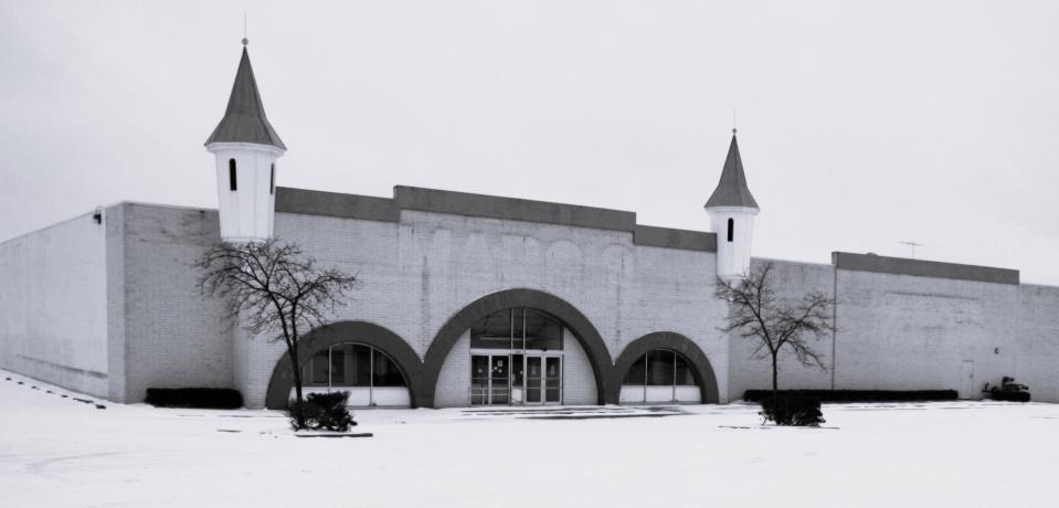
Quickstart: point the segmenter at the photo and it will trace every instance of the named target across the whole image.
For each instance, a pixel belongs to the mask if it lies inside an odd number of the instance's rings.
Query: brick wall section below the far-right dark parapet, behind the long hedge
[[[837,388],[960,390],[973,361],[978,398],[1015,372],[1016,285],[839,269],[837,287]]]

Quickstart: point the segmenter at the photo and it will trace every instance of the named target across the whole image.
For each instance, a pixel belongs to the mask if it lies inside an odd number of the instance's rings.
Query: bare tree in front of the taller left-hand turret
[[[265,335],[287,346],[297,398],[294,417],[299,428],[305,427],[298,358],[303,330],[325,325],[327,315],[343,305],[342,296],[356,277],[321,268],[296,244],[277,240],[221,242],[194,266],[202,271],[200,290],[223,298],[233,324],[242,322],[252,337]]]

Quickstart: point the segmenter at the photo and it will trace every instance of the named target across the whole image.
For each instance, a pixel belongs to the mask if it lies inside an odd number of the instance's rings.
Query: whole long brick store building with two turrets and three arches
[[[716,233],[632,212],[395,187],[390,198],[277,188],[286,147],[244,49],[206,149],[219,209],[119,203],[0,244],[0,366],[117,402],[147,388],[239,389],[280,408],[280,343],[231,326],[192,262],[220,241],[278,237],[356,273],[333,322],[303,342],[310,390],[354,405],[727,402],[770,385],[752,345],[718,330],[716,277],[774,265],[781,297],[834,295],[826,371],[787,388],[954,389],[1015,375],[1059,401],[1059,288],[1018,272],[835,253],[751,257],[759,207],[733,135],[707,202]],[[706,220],[706,216],[703,218]]]

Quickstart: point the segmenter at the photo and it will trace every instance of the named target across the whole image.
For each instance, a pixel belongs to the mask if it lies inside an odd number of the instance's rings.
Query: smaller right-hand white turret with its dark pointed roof
[[[735,129],[728,147],[721,180],[706,202],[710,226],[717,233],[717,276],[734,281],[750,269],[750,247],[754,239],[754,216],[759,212],[739,156]]]

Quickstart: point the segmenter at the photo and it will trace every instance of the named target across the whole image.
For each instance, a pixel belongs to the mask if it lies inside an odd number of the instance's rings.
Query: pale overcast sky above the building
[[[216,207],[243,10],[278,183],[631,210],[706,231],[735,109],[754,255],[1059,284],[1059,2],[0,0],[0,239]]]

